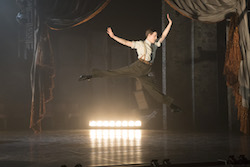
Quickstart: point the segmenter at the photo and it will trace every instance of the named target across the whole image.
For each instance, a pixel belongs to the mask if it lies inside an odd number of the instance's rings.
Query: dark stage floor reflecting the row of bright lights
[[[229,155],[250,159],[250,136],[153,130],[0,132],[0,166],[74,167],[213,162]]]

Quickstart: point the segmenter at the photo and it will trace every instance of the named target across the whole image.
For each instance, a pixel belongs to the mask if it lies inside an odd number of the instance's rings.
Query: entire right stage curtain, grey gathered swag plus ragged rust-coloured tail
[[[176,11],[191,19],[211,23],[224,19],[231,20],[224,74],[227,78],[227,85],[233,88],[236,97],[235,104],[238,108],[238,118],[241,123],[240,130],[244,133],[249,133],[250,41],[246,1],[165,1]]]

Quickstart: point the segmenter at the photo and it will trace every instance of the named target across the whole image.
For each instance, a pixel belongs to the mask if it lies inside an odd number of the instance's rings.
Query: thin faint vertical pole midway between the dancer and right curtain
[[[195,112],[195,80],[194,80],[194,20],[191,21],[191,57],[192,57],[192,120],[193,128],[196,128]]]

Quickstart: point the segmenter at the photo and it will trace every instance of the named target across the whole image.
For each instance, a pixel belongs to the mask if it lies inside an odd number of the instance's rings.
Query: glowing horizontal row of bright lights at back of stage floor
[[[90,127],[141,127],[141,121],[89,121]]]

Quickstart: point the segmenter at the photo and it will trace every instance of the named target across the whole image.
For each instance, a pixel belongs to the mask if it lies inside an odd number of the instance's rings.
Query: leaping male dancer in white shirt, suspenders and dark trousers
[[[156,56],[156,49],[161,46],[162,41],[167,37],[172,26],[172,20],[167,14],[168,25],[162,33],[162,36],[157,40],[157,32],[151,29],[146,31],[146,39],[144,41],[128,41],[114,35],[112,29],[107,29],[108,35],[117,42],[136,49],[138,60],[127,67],[122,67],[116,70],[92,70],[91,75],[81,75],[79,81],[90,80],[97,77],[133,77],[139,79],[143,88],[155,98],[158,102],[166,104],[172,112],[180,112],[181,108],[173,104],[173,99],[161,93],[150,77],[151,67]]]

